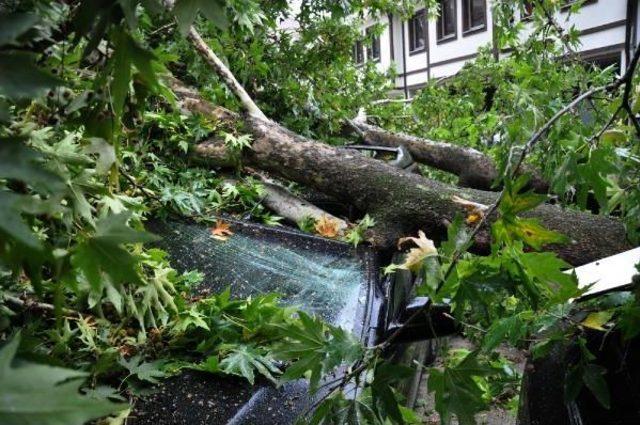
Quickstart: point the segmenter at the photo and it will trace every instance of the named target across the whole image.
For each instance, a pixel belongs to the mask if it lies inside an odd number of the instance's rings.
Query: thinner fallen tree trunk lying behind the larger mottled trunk
[[[494,183],[498,177],[496,164],[493,159],[476,149],[390,132],[361,120],[353,120],[350,124],[359,130],[358,134],[365,143],[388,147],[402,145],[416,161],[457,175],[460,186],[495,189]],[[540,193],[549,190],[549,184],[537,170],[526,167],[524,171],[531,175],[529,185],[533,190]]]

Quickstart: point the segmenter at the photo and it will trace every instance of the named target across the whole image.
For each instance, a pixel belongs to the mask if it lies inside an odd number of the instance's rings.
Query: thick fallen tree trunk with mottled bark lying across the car
[[[424,230],[438,239],[457,213],[463,212],[454,195],[481,204],[496,200],[495,192],[465,189],[391,167],[357,153],[306,139],[282,126],[258,118],[244,119],[253,134],[242,161],[280,177],[313,187],[355,205],[376,220],[372,243],[388,248],[401,236]],[[212,164],[225,163],[219,141],[196,146],[194,153]],[[547,228],[567,235],[570,242],[551,246],[560,257],[580,265],[630,248],[623,225],[590,213],[541,205],[526,214]],[[476,240],[487,248],[487,234]]]

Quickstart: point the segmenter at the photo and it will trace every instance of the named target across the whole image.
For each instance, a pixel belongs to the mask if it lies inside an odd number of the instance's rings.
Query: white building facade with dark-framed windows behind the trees
[[[637,5],[638,0],[588,0],[579,12],[563,10],[555,18],[562,27],[575,26],[580,32],[584,60],[622,69],[625,46],[635,46],[638,39]],[[477,56],[478,48],[493,45],[491,0],[440,0],[440,11],[437,19],[428,19],[424,9],[407,21],[393,15],[370,17],[365,33],[376,23],[384,30],[354,46],[354,60],[375,61],[383,72],[395,69],[396,89],[411,97],[428,81],[456,74]],[[518,15],[523,16],[514,19],[523,20],[526,28],[526,12]]]

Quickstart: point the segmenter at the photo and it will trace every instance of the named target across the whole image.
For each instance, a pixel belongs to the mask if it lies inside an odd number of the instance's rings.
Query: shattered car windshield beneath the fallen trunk
[[[212,237],[202,224],[153,222],[179,270],[199,270],[200,293],[231,288],[234,297],[277,293],[286,305],[350,327],[367,280],[362,256],[346,245],[291,232],[231,223],[233,235]]]

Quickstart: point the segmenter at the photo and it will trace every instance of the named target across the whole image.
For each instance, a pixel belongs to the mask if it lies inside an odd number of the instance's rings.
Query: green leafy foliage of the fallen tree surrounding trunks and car
[[[282,307],[273,294],[236,300],[225,291],[194,299],[190,290],[201,275],[179,274],[166,253],[144,246],[155,240],[144,231],[148,217],[188,216],[213,226],[226,212],[279,221],[261,204],[255,179],[240,174],[231,183],[188,155],[193,143],[212,137],[236,152],[251,144],[241,128],[176,107],[168,72],[197,83],[214,103],[238,109],[185,39],[191,26],[260,107],[298,133],[344,143],[345,119],[365,107],[386,128],[479,149],[503,172],[576,91],[614,74],[555,60],[575,47],[578,35],[559,32],[542,8],[523,41],[523,24],[511,21],[522,1],[496,2],[494,10],[498,47],[511,49],[508,58],[496,61],[482,50],[458,76],[428,85],[402,105],[372,102],[386,97],[392,76],[372,63],[356,67],[351,49],[363,40],[357,28],[367,13],[408,17],[425,2],[305,1],[295,36],[277,28],[291,13],[284,0],[178,0],[172,10],[150,0],[8,3],[0,13],[0,331],[23,329],[31,358],[68,367],[25,362],[22,352],[16,357],[19,339],[6,343],[0,421],[9,424],[84,423],[118,411],[114,421],[122,421],[127,406],[107,399],[126,400],[183,367],[251,383],[308,379],[320,397],[313,424],[418,422],[396,389],[413,371],[385,360],[390,341],[363,347],[342,328]],[[551,12],[561,7],[537,3]],[[426,2],[430,12],[435,4]],[[417,293],[450,301],[477,347],[448,353],[442,367],[429,370],[444,422],[455,416],[473,423],[491,402],[515,394],[509,391],[517,375],[496,354],[502,344],[544,355],[563,340],[577,341],[567,399],[585,387],[603,406],[611,404],[607,371],[587,348],[585,328],[637,337],[637,294],[589,303],[573,323],[576,307],[569,301],[581,291],[564,273],[569,265],[543,251],[566,238],[523,214],[554,199],[619,216],[638,240],[640,145],[619,96],[566,114],[541,141],[543,149],[530,155],[550,196],[527,192],[525,177],[496,182],[505,190],[489,255],[467,252],[474,223],[462,217],[437,247],[427,235],[407,240],[418,244],[406,263],[422,278]],[[637,112],[637,91],[632,101]],[[317,225],[300,223],[312,232]],[[365,215],[341,237],[358,245],[373,225]],[[105,385],[113,382],[117,390]]]

